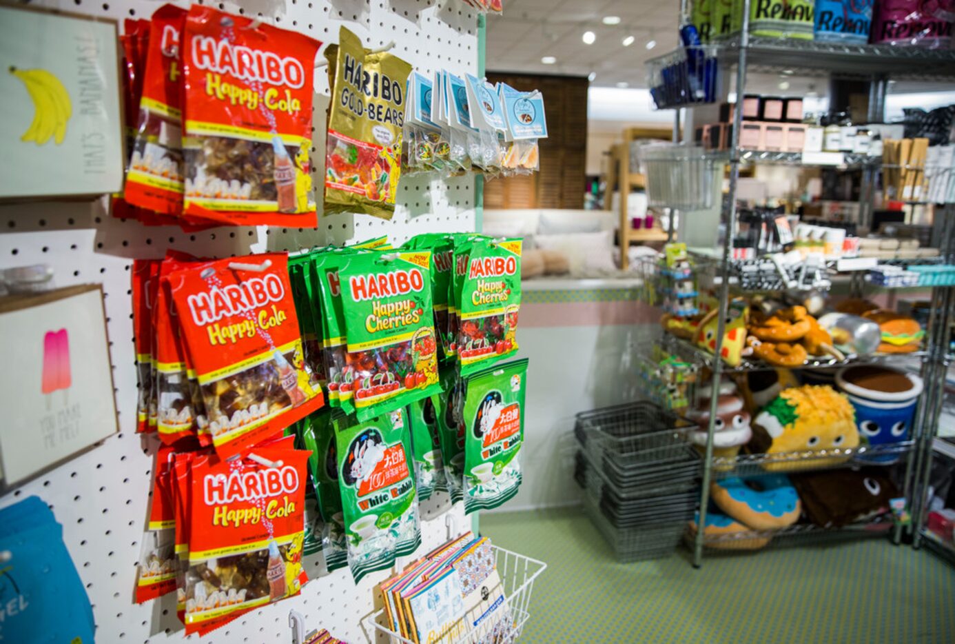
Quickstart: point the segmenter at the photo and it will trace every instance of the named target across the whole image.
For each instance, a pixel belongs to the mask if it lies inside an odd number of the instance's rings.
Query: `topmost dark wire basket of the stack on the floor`
[[[593,463],[619,472],[652,463],[687,462],[690,431],[696,426],[662,407],[639,400],[581,412],[574,434]]]

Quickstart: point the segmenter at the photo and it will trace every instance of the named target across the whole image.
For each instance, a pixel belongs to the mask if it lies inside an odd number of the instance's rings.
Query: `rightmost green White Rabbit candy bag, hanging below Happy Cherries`
[[[467,378],[462,413],[465,514],[498,507],[518,493],[526,390],[526,359]]]

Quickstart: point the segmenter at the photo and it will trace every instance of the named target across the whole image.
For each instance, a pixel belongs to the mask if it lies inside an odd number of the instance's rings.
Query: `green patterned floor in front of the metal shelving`
[[[481,515],[546,562],[521,642],[955,642],[955,568],[881,538],[618,564],[580,508]]]

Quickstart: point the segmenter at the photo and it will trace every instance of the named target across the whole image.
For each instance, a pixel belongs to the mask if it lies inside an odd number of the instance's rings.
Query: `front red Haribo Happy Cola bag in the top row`
[[[193,5],[185,24],[185,214],[220,224],[316,223],[311,106],[321,43]]]

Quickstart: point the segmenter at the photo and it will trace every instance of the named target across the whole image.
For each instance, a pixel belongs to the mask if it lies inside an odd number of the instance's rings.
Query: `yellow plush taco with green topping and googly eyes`
[[[755,452],[780,455],[763,467],[792,471],[826,462],[844,462],[849,456],[806,458],[807,452],[859,446],[856,412],[846,397],[828,385],[803,385],[786,389],[754,420]]]

